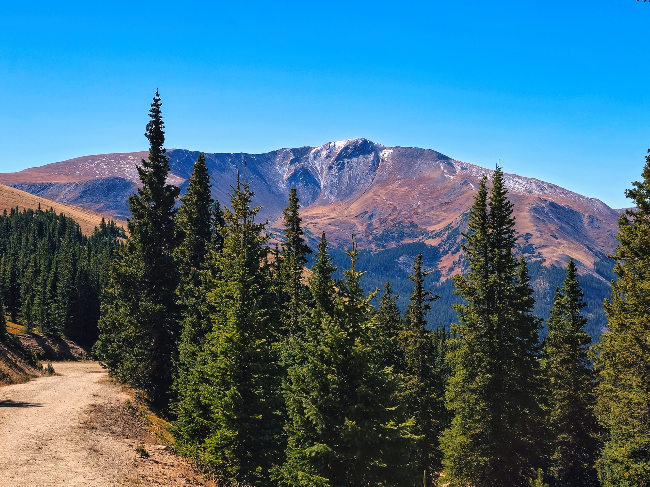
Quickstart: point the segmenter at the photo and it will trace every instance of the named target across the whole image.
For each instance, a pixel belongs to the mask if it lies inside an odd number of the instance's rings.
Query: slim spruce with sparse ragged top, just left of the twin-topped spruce
[[[406,404],[409,414],[415,416],[415,434],[421,436],[417,460],[425,487],[433,485],[441,469],[438,438],[448,423],[445,378],[436,373],[434,343],[426,329],[429,303],[439,296],[432,296],[432,292],[424,289],[426,275],[428,272],[422,270],[422,254],[418,254],[413,274],[409,275],[415,286],[406,308],[408,325],[398,335],[404,368],[404,389],[398,394],[398,401]]]

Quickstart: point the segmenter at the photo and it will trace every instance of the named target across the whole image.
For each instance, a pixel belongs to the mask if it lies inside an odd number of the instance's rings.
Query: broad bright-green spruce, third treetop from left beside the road
[[[244,169],[224,215],[224,247],[211,253],[217,269],[207,294],[213,328],[179,401],[174,436],[181,451],[218,477],[265,486],[271,466],[283,459],[283,370],[268,234],[265,223],[255,223],[261,206],[253,208],[252,197]]]

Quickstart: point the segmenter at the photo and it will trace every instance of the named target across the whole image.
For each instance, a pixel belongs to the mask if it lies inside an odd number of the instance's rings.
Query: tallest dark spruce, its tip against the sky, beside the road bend
[[[137,168],[142,188],[129,197],[129,238],[110,269],[110,303],[103,308],[95,347],[112,376],[146,390],[157,406],[166,405],[168,399],[179,336],[172,253],[180,190],[166,182],[170,166],[161,105],[156,90],[145,133],[149,157]]]

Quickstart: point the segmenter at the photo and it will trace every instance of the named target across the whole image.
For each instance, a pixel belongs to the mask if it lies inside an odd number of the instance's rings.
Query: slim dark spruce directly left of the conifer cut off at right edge
[[[598,484],[594,464],[599,449],[593,414],[595,375],[587,356],[591,338],[584,331],[586,306],[573,259],[569,259],[562,291],[555,293],[543,368],[549,384],[552,455],[549,473],[557,487]]]

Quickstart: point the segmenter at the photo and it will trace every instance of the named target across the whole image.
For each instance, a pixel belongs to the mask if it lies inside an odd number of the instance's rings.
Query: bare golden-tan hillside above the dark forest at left
[[[77,206],[65,205],[64,203],[45,199],[44,197],[33,195],[10,186],[5,186],[5,184],[0,184],[0,211],[5,209],[9,211],[11,208],[16,208],[16,206],[18,206],[18,209],[21,211],[26,208],[36,209],[39,205],[44,210],[51,207],[54,208],[57,213],[63,212],[66,216],[74,218],[79,223],[81,231],[86,235],[92,234],[95,227],[101,223],[102,218],[112,218]],[[116,220],[116,223],[126,228],[125,221]]]

